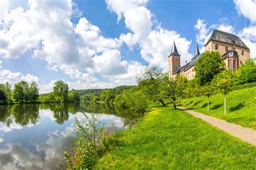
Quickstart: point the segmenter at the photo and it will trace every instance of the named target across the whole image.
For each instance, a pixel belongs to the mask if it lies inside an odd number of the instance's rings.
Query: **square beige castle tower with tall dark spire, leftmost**
[[[180,55],[177,51],[174,41],[172,45],[172,52],[169,55],[168,59],[169,59],[169,75],[172,75],[174,70],[180,68]]]

